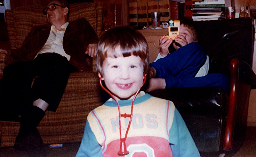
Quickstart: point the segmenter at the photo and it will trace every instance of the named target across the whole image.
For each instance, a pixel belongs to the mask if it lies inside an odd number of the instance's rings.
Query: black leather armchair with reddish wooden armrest
[[[200,87],[149,94],[175,104],[200,153],[234,151],[243,144],[250,90],[256,85],[254,25],[250,18],[195,21],[195,25],[199,43],[210,59],[209,73],[230,76],[229,92],[221,87]]]

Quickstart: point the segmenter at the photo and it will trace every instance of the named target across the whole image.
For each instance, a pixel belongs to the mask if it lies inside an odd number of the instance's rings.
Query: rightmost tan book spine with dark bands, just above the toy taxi
[[[160,11],[160,27],[163,27],[163,22],[169,24],[170,1],[158,1],[158,10]]]

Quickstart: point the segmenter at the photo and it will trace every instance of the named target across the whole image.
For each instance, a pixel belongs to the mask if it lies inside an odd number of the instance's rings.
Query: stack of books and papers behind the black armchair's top
[[[225,0],[202,0],[192,5],[194,21],[225,19]]]

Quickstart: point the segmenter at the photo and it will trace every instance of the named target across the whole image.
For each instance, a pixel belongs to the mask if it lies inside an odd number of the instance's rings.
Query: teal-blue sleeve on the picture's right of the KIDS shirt
[[[173,157],[200,157],[196,144],[176,108],[172,127],[169,131],[169,143],[171,144]]]

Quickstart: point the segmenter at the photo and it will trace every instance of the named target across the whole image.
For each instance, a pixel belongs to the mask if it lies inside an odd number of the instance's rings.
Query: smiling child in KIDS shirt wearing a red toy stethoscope
[[[105,32],[96,63],[112,98],[89,113],[76,157],[200,156],[174,104],[140,91],[149,68],[141,33],[127,26]]]

